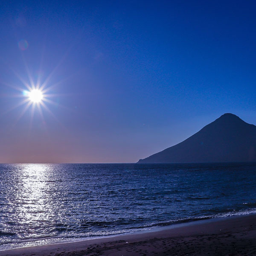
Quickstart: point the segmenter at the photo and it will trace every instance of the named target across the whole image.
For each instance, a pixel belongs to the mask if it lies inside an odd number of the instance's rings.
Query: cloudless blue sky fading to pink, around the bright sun
[[[254,1],[2,1],[0,163],[129,163],[223,113],[256,124]],[[41,111],[26,84],[45,85]]]

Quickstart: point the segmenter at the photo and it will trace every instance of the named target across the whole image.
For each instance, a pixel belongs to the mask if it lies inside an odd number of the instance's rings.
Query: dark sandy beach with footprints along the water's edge
[[[0,256],[256,256],[256,215],[0,251]]]

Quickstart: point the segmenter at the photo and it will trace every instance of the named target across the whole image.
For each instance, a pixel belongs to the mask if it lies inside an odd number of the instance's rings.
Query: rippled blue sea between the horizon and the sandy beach
[[[256,163],[0,164],[0,250],[256,213]]]

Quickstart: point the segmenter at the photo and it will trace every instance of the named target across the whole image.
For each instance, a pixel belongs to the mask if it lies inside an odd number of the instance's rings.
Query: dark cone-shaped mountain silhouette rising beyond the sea
[[[226,113],[183,142],[138,163],[256,161],[256,126]]]

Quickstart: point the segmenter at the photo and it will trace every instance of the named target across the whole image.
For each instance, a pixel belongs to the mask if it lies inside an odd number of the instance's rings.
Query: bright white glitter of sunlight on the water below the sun
[[[38,237],[40,230],[52,220],[52,198],[47,180],[51,175],[51,167],[43,164],[22,165],[19,169],[19,188],[16,190],[17,221],[26,225],[22,237]],[[56,207],[55,207],[56,208]],[[43,230],[42,230],[43,231]],[[44,233],[44,232],[43,232]]]

